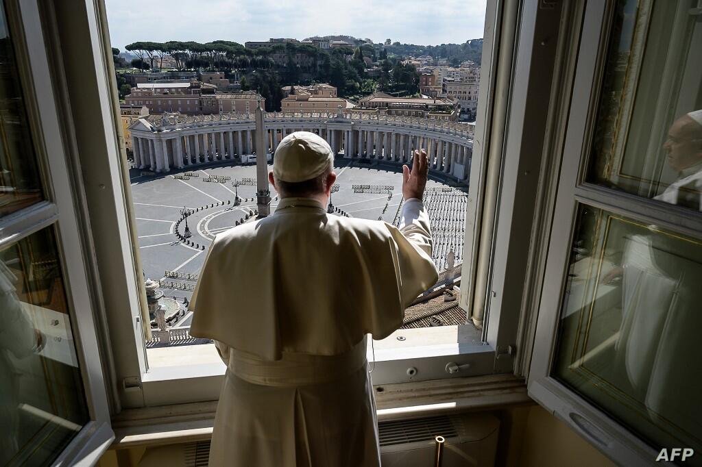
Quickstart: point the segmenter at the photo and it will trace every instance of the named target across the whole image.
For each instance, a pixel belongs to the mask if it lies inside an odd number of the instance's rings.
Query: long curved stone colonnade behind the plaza
[[[427,151],[430,168],[467,183],[474,123],[380,116],[364,112],[265,114],[267,152],[275,153],[286,135],[305,130],[323,137],[345,158],[406,163],[414,149]],[[134,160],[140,168],[168,172],[212,161],[243,160],[253,154],[252,115],[150,115],[131,126]]]

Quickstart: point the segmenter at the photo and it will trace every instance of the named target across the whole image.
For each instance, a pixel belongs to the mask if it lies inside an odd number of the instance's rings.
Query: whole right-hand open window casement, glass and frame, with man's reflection
[[[588,2],[572,44],[529,394],[623,465],[702,449],[697,6]]]

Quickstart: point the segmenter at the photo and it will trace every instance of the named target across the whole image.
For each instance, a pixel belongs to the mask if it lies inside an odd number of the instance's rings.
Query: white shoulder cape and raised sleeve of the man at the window
[[[192,296],[190,333],[264,360],[333,356],[365,334],[387,337],[438,277],[421,201],[406,201],[402,214],[397,229],[284,198],[274,215],[219,234]]]

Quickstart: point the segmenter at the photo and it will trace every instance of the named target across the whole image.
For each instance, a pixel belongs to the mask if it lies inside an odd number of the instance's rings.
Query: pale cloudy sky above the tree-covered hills
[[[486,0],[105,0],[112,47],[347,34],[434,46],[483,36]]]

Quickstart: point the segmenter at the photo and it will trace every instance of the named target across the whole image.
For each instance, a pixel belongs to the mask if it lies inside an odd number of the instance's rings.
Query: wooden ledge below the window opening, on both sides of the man
[[[376,387],[379,420],[529,405],[524,379],[512,374],[439,379]],[[110,449],[209,440],[216,401],[123,410],[112,417]]]

